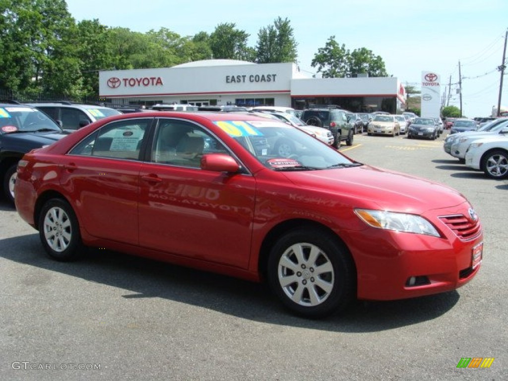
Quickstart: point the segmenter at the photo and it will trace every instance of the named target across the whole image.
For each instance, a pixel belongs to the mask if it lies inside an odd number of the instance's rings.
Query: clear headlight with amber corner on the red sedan
[[[429,221],[415,214],[370,209],[355,209],[355,213],[373,228],[439,237],[439,233]]]

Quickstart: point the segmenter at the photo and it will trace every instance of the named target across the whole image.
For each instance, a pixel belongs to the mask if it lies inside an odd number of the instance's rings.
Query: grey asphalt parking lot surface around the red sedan
[[[291,315],[263,284],[112,251],[52,261],[0,202],[0,379],[508,379],[508,181],[459,164],[442,139],[364,134],[340,150],[466,196],[484,229],[479,274],[453,292],[359,301],[325,320]],[[494,361],[457,367],[463,358]]]

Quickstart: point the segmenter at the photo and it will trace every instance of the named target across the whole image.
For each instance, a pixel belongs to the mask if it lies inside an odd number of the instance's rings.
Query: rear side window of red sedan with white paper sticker
[[[89,135],[70,152],[75,155],[139,160],[141,143],[151,119],[119,120]]]

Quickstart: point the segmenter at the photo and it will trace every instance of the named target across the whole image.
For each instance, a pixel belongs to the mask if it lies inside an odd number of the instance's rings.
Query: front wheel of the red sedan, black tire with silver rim
[[[356,298],[356,269],[350,253],[337,237],[317,229],[283,235],[270,251],[267,270],[272,292],[285,307],[304,317],[342,311]]]

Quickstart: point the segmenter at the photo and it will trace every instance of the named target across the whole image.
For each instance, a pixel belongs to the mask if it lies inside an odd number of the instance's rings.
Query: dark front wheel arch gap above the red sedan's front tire
[[[309,219],[303,219],[303,218],[295,218],[295,219],[289,219],[282,221],[280,224],[274,226],[265,236],[263,239],[263,243],[261,244],[259,257],[258,257],[258,271],[261,275],[262,279],[266,279],[267,277],[267,271],[268,271],[268,257],[270,255],[270,250],[272,246],[275,244],[277,239],[284,235],[287,232],[290,232],[294,229],[315,229],[320,230],[332,237],[332,239],[335,239],[338,244],[340,244],[344,251],[347,252],[347,255],[351,259],[351,263],[353,264],[355,268],[355,274],[357,274],[357,268],[355,260],[351,254],[350,249],[347,247],[345,242],[338,236],[332,229],[327,227],[326,225],[320,224],[316,221],[309,220]],[[355,275],[356,276],[356,275]]]

